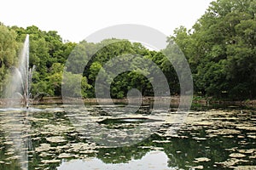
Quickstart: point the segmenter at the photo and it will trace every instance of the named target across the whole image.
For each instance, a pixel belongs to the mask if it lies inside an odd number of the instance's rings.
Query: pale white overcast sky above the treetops
[[[82,41],[118,24],[150,26],[166,36],[178,26],[191,28],[213,0],[3,0],[0,22],[58,31],[64,40]]]

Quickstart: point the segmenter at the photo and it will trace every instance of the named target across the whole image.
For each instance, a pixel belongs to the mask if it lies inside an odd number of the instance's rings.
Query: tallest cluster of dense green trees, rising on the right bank
[[[256,96],[256,19],[253,0],[212,2],[190,31],[170,37],[189,59],[195,91],[208,96]]]

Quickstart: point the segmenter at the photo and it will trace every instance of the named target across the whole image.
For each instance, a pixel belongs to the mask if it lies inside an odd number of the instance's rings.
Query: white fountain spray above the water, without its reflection
[[[19,65],[11,68],[12,74],[6,88],[5,95],[9,100],[9,106],[20,104],[21,99],[21,103],[28,108],[33,70],[34,66],[29,68],[29,35],[26,35],[20,53]]]

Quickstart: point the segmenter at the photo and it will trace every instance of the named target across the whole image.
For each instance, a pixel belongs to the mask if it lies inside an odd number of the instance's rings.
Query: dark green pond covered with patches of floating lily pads
[[[252,108],[124,106],[0,109],[0,169],[256,169]]]

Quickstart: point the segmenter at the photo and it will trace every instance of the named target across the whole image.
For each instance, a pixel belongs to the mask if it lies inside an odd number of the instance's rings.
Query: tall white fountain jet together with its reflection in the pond
[[[20,169],[28,169],[28,150],[32,149],[30,139],[30,123],[27,119],[30,90],[32,82],[32,71],[34,66],[29,68],[29,35],[23,43],[20,52],[18,65],[10,68],[9,79],[5,87],[5,98],[7,99],[7,112],[1,112],[7,122],[1,124],[5,127],[5,138],[13,144],[12,150],[18,157]],[[20,102],[26,109],[20,108]],[[15,108],[19,106],[19,108]],[[9,114],[12,113],[12,114]]]

